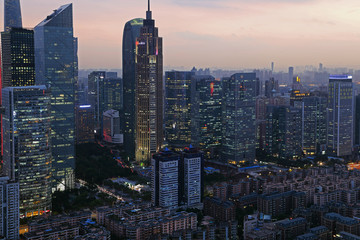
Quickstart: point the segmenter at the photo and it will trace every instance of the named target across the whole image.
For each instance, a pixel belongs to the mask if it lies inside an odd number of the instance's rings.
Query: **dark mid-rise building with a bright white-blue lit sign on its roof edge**
[[[95,141],[95,111],[91,105],[76,106],[76,144]]]

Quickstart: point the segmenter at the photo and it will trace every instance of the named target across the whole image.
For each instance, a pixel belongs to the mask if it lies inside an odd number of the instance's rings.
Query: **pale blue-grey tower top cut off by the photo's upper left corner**
[[[20,0],[4,0],[4,30],[22,28]]]

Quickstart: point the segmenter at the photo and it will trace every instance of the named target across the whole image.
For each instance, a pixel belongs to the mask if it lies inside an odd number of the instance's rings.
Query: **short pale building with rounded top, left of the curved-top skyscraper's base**
[[[112,144],[124,142],[124,136],[120,133],[120,114],[119,111],[110,109],[103,114],[103,139]]]

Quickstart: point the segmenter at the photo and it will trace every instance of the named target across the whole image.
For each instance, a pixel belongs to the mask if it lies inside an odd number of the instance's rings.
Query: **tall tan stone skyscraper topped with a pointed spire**
[[[163,142],[162,38],[152,19],[150,1],[136,41],[136,160],[149,162]]]

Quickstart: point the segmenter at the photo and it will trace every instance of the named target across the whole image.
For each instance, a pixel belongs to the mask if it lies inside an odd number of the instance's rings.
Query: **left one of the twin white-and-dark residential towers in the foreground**
[[[153,155],[151,167],[152,203],[160,207],[178,207],[180,155],[165,149]]]

